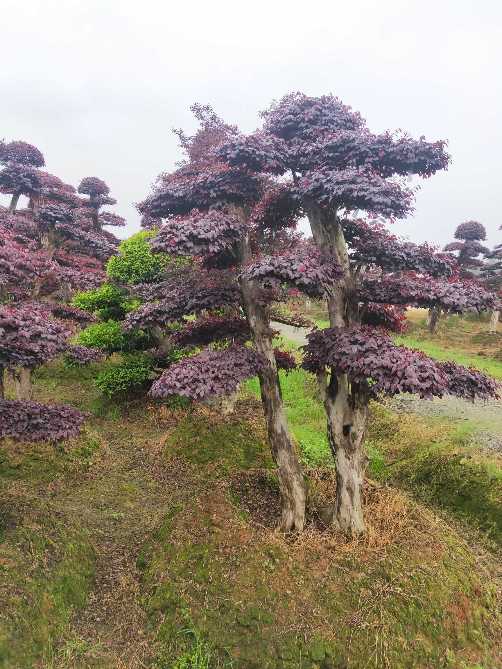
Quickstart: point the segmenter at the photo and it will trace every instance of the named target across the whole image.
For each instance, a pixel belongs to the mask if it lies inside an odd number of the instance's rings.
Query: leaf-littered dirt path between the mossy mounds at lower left
[[[145,666],[155,641],[147,634],[145,593],[135,563],[149,532],[187,490],[175,479],[159,481],[149,475],[145,448],[164,436],[165,429],[116,423],[110,430],[110,423],[99,421],[90,427],[106,438],[104,461],[94,476],[68,482],[52,497],[82,524],[96,546],[96,581],[86,608],[74,615],[70,643],[56,650],[56,658],[59,654],[64,662],[54,666]]]

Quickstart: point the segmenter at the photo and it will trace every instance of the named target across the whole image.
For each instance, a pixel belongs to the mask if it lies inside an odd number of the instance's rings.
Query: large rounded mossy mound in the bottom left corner
[[[0,497],[0,666],[31,667],[84,605],[95,554],[87,533],[50,502]]]

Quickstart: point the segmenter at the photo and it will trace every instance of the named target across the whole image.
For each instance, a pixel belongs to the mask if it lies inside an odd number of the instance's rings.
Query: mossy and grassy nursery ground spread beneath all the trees
[[[498,335],[473,353],[486,329],[416,320],[401,339],[497,375]],[[80,437],[0,447],[1,666],[499,666],[502,457],[481,423],[376,405],[365,535],[314,514],[287,537],[258,382],[229,415],[108,399],[94,379],[120,357],[35,375],[39,401],[92,412]],[[325,413],[311,375],[280,378],[314,508],[334,485]]]

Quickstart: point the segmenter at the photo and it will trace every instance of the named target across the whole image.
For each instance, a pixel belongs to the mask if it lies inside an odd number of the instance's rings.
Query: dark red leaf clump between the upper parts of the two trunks
[[[252,222],[274,230],[295,227],[304,214],[301,203],[293,197],[292,185],[287,181],[268,189],[252,211]]]

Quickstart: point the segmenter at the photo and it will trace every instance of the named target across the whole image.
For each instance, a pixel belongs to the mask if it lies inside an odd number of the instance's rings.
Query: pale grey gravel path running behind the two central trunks
[[[307,342],[306,328],[294,328],[290,325],[274,323],[286,341],[302,346]],[[430,401],[417,395],[398,395],[388,405],[396,412],[414,413],[424,418],[444,417],[455,419],[459,424],[470,425],[475,431],[475,441],[487,452],[502,453],[502,399],[483,401],[476,399],[474,404],[463,399],[446,395]]]

